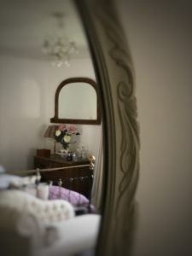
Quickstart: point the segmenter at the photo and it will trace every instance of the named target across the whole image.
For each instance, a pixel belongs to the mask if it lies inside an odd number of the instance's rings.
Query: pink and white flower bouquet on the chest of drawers
[[[55,141],[61,143],[62,148],[65,152],[69,149],[69,144],[75,143],[72,142],[72,135],[79,135],[79,131],[77,131],[76,127],[70,125],[60,125],[55,131]]]

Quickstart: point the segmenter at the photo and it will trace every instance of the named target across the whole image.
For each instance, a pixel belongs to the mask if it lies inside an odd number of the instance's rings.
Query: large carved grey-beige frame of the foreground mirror
[[[115,1],[75,3],[90,44],[102,103],[104,177],[96,256],[128,256],[137,224],[134,195],[140,148],[131,53]]]

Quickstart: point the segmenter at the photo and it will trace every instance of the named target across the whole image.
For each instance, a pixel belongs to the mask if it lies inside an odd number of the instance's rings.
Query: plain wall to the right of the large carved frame
[[[141,126],[134,256],[192,252],[192,4],[120,0]]]

